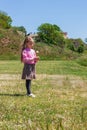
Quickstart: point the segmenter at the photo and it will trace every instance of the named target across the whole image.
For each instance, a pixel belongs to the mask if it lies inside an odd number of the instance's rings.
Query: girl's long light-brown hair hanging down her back
[[[27,43],[32,43],[32,44],[34,44],[33,38],[30,37],[30,36],[26,36],[26,37],[25,37],[25,40],[24,40],[24,42],[23,42],[23,44],[22,44],[22,47],[21,47],[21,62],[23,61],[22,52],[23,52],[23,50],[27,47]]]

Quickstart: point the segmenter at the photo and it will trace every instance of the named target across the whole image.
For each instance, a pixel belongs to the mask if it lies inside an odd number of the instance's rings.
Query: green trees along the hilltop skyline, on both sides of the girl
[[[21,31],[27,34],[24,26],[12,26],[12,18],[6,12],[0,11],[0,28],[10,29],[14,31]],[[35,38],[36,42],[46,43],[48,45],[58,45],[60,48],[68,48],[74,52],[82,53],[85,49],[85,43],[82,39],[65,39],[63,31],[58,25],[43,23],[37,28],[38,37]]]

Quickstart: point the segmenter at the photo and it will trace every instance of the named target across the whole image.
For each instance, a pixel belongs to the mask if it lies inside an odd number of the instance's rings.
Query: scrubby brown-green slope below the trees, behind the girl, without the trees
[[[19,59],[21,43],[24,38],[24,34],[18,32],[14,28],[9,30],[0,29],[0,59]],[[70,60],[78,58],[81,54],[78,54],[76,51],[72,51],[67,47],[68,45],[71,45],[70,40],[67,43],[66,40],[63,39],[63,42],[61,43],[60,40],[59,44],[36,42],[34,48],[39,51],[38,55],[41,60]]]

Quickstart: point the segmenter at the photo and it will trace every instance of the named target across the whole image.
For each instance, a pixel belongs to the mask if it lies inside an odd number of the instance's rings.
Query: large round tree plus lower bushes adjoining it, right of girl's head
[[[61,29],[57,25],[49,23],[41,24],[38,27],[38,38],[36,40],[37,42],[45,42],[48,45],[58,45],[62,48],[61,52],[64,52],[64,48],[67,47],[74,52],[83,53],[85,48],[84,42],[80,38],[64,39]]]

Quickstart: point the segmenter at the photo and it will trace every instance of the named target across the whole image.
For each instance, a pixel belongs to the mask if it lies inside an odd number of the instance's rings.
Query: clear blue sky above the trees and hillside
[[[0,0],[0,10],[12,18],[12,26],[24,26],[27,33],[50,23],[69,38],[87,38],[87,0]]]

